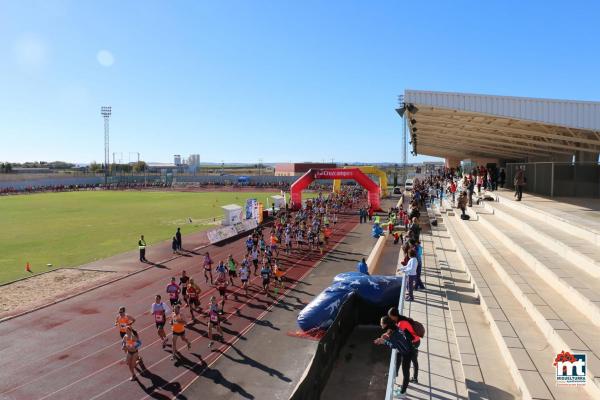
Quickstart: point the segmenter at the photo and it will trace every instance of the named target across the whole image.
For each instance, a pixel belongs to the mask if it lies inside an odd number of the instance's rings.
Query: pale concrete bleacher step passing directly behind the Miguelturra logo
[[[555,353],[570,351],[587,354],[588,394],[600,398],[600,335],[597,326],[588,318],[587,309],[577,309],[565,300],[560,288],[550,285],[533,271],[513,249],[500,243],[481,222],[467,222],[465,232],[471,243],[489,262],[513,297],[543,333]],[[548,352],[547,352],[548,353]],[[552,354],[546,355],[551,364]]]

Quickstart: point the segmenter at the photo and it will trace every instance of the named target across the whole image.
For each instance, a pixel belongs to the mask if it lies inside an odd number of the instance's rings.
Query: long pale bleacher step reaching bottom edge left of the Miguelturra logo
[[[504,283],[495,268],[472,243],[466,225],[449,218],[452,241],[470,276],[493,337],[524,399],[592,399],[584,388],[555,385],[554,350],[533,318]],[[498,362],[495,366],[502,369]]]

